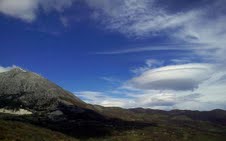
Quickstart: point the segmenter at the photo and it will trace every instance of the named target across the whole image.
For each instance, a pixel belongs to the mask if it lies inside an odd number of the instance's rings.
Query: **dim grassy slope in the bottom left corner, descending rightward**
[[[0,120],[1,141],[78,141],[62,133],[16,121]]]

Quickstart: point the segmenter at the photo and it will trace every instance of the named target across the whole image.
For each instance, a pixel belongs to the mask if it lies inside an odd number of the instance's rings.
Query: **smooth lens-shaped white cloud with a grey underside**
[[[194,90],[212,73],[210,64],[171,65],[149,69],[126,85],[147,90]]]

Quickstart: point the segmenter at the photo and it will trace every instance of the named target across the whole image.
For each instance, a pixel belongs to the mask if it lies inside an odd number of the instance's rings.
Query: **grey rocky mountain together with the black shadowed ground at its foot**
[[[2,117],[4,120],[33,124],[77,137],[107,135],[112,127],[144,125],[102,115],[96,106],[21,68],[0,73],[0,112],[6,114]]]

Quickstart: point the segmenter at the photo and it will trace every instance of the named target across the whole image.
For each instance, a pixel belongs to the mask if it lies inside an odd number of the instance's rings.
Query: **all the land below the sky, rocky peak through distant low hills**
[[[226,111],[91,105],[36,73],[14,68],[0,73],[0,140],[225,141]]]

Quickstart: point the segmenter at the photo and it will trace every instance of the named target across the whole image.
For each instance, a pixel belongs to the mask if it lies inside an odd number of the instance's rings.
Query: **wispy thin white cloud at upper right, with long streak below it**
[[[118,31],[125,36],[135,38],[166,36],[172,42],[184,41],[196,43],[191,49],[203,59],[220,61],[225,64],[226,53],[226,16],[224,1],[208,2],[202,6],[183,11],[166,10],[167,5],[158,4],[157,0],[86,0],[95,10],[96,20],[101,21],[106,29]],[[211,3],[211,5],[208,5]],[[163,47],[157,47],[162,50]],[[171,47],[164,47],[172,50]],[[175,47],[173,47],[175,49]],[[155,47],[139,47],[99,54],[125,54],[153,51]],[[176,50],[176,49],[175,49]]]

